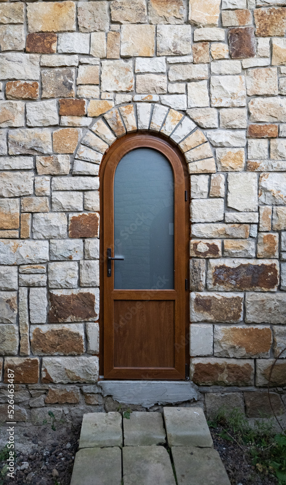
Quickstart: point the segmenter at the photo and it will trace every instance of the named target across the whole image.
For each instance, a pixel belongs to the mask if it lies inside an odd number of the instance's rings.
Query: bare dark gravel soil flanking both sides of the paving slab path
[[[75,453],[81,425],[56,423],[56,430],[50,424],[19,424],[16,427],[16,470],[15,485],[70,485]],[[277,485],[274,478],[259,476],[251,465],[249,448],[220,438],[220,429],[211,429],[214,448],[219,452],[226,467],[231,485]],[[5,427],[0,429],[0,450],[6,441]],[[3,462],[0,463],[0,470]],[[0,485],[11,485],[11,479],[1,476]]]

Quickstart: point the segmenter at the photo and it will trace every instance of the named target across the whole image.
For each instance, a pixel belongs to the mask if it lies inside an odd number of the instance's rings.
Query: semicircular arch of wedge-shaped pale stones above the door
[[[126,133],[160,132],[184,154],[190,174],[213,174],[216,164],[211,144],[185,113],[159,103],[115,106],[99,116],[81,139],[76,151],[74,175],[98,175],[105,151]]]

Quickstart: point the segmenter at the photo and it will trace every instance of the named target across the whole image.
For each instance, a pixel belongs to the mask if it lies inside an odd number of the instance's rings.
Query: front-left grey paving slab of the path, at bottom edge
[[[75,455],[71,485],[120,485],[121,450],[85,448]]]

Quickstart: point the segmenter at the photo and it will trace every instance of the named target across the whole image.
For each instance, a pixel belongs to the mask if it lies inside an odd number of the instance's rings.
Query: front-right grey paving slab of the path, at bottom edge
[[[172,456],[178,485],[230,485],[220,455],[213,448],[175,446]]]

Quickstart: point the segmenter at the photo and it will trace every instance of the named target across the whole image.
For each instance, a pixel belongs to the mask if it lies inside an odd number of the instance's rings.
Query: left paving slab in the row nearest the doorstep
[[[83,415],[79,448],[122,447],[122,444],[122,416],[120,413],[88,413]]]

